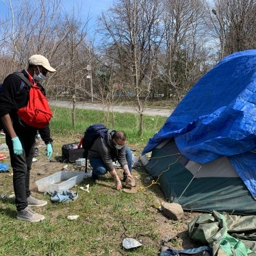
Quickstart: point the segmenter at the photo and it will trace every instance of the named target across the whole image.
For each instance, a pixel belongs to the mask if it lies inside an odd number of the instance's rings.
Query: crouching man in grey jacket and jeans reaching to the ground
[[[107,138],[103,139],[99,136],[92,147],[88,151],[88,159],[92,166],[92,179],[97,180],[99,176],[110,172],[112,175],[116,189],[122,188],[122,183],[113,161],[118,161],[123,168],[123,181],[127,177],[133,179],[131,176],[132,168],[132,152],[126,145],[126,135],[124,131],[107,131]]]

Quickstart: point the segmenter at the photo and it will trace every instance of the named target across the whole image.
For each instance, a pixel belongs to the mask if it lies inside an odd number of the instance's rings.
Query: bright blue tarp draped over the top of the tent
[[[227,156],[256,199],[255,91],[256,49],[225,57],[186,94],[142,155],[174,138],[194,162]]]

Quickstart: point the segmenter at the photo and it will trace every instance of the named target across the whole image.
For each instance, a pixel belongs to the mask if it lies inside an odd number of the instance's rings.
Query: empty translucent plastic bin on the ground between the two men
[[[39,192],[54,192],[58,190],[68,190],[74,185],[83,181],[86,177],[85,172],[73,172],[61,170],[53,175],[36,181]]]

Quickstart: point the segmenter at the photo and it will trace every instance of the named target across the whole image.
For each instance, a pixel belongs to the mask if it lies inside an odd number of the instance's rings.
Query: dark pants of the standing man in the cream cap
[[[24,133],[18,136],[23,146],[22,155],[14,155],[12,140],[10,136],[5,136],[6,144],[10,152],[10,160],[13,171],[13,186],[15,193],[15,203],[18,211],[27,207],[27,197],[31,194],[29,190],[29,176],[34,148],[36,144],[36,133]]]

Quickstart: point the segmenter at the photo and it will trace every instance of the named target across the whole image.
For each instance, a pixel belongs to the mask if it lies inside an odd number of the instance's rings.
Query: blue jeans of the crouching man
[[[125,149],[125,157],[127,159],[127,164],[129,171],[131,172],[132,170],[132,152],[131,149],[126,147]],[[105,164],[101,157],[92,157],[90,158],[90,166],[92,166],[92,171],[94,175],[102,176],[107,173],[107,169],[105,168]]]

